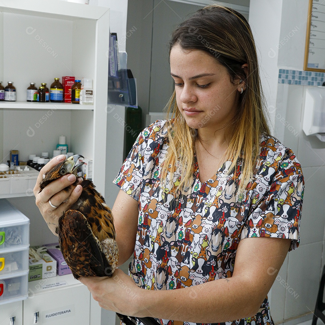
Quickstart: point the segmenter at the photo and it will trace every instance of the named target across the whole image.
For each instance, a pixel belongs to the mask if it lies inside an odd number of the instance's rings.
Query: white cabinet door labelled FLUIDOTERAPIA
[[[89,325],[90,293],[85,286],[35,294],[23,303],[23,324]]]

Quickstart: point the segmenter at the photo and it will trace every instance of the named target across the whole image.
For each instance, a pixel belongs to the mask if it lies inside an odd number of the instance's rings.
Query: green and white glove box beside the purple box
[[[36,251],[40,247],[42,246],[32,246],[30,249]],[[41,259],[35,257],[30,250],[28,281],[52,278],[57,275],[57,261],[45,252],[40,252],[38,255]]]

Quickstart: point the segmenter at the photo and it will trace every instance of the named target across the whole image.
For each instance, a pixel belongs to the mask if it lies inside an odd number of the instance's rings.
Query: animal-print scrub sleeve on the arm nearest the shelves
[[[156,121],[139,134],[118,175],[113,180],[114,184],[136,201],[139,200],[143,177],[145,171],[147,172],[147,165],[153,152],[149,143],[153,141],[156,131],[161,127],[162,121]]]

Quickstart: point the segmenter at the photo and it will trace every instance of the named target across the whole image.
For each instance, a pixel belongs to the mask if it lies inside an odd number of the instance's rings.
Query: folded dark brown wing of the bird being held
[[[84,214],[68,210],[59,218],[57,233],[63,257],[76,279],[109,275],[110,272],[105,271],[110,270],[111,265]]]

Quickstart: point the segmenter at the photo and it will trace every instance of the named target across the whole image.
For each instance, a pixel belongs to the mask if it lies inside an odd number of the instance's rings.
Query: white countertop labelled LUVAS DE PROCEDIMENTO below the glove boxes
[[[73,278],[72,274],[57,275],[52,278],[45,278],[28,282],[29,296],[42,294],[50,291],[72,288],[83,285],[80,281]]]

